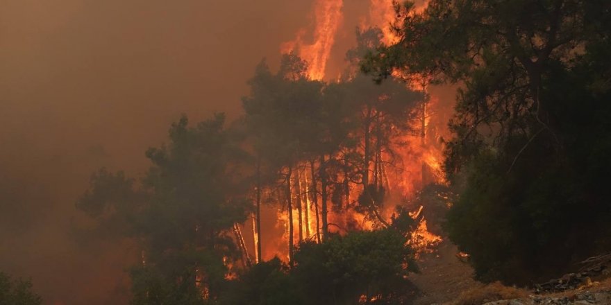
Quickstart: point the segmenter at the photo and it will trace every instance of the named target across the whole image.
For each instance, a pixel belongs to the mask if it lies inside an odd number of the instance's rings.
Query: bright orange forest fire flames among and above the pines
[[[418,1],[415,3],[415,9],[421,12],[426,8],[428,1]],[[297,33],[296,38],[291,42],[286,42],[282,45],[283,53],[296,53],[305,62],[308,63],[307,75],[311,80],[323,80],[325,78],[326,64],[330,58],[330,50],[335,42],[335,35],[342,21],[342,6],[341,0],[324,1],[318,0],[315,2],[314,17],[315,28],[312,32],[313,41],[305,42],[305,28],[302,28]],[[369,9],[369,19],[362,19],[362,28],[376,26],[382,30],[383,44],[394,44],[399,40],[394,30],[392,23],[396,17],[394,1],[392,0],[371,0]],[[399,71],[396,71],[399,73]],[[426,78],[417,76],[406,76],[401,73],[395,75],[396,78],[403,80],[407,87],[412,90],[427,92]],[[358,194],[362,192],[362,187],[348,186],[344,192],[342,205],[344,208],[337,213],[331,209],[328,214],[329,227],[328,231],[335,234],[346,234],[347,232],[358,230],[371,230],[374,227],[383,225],[383,219],[390,220],[397,205],[400,205],[405,199],[411,198],[416,191],[429,183],[444,183],[444,176],[441,168],[442,146],[437,141],[439,130],[445,129],[444,126],[434,126],[430,124],[430,116],[435,113],[436,105],[439,103],[437,96],[431,96],[426,93],[426,100],[422,101],[422,106],[417,107],[415,119],[410,123],[413,134],[405,134],[395,140],[393,152],[380,151],[374,157],[377,160],[374,164],[370,164],[371,171],[374,175],[376,184],[383,186],[390,194],[392,202],[387,202],[379,211],[378,219],[367,213],[354,211],[353,207],[357,204]],[[341,156],[337,156],[341,158]],[[384,160],[392,160],[387,162]],[[273,241],[275,245],[272,250],[276,255],[290,259],[290,254],[287,252],[287,243],[291,239],[294,245],[299,245],[302,241],[320,241],[321,215],[314,211],[315,204],[312,204],[312,193],[309,189],[308,181],[313,177],[308,175],[308,171],[299,171],[297,175],[291,178],[292,189],[291,198],[293,202],[292,220],[288,217],[285,204],[282,209],[276,211],[278,219],[278,227],[283,230],[280,241]],[[319,196],[316,194],[315,196]],[[319,198],[320,199],[320,198]],[[286,199],[285,199],[286,200]],[[337,199],[335,199],[337,200]],[[380,218],[381,217],[381,218]],[[435,244],[441,240],[439,236],[430,234],[427,231],[426,220],[418,218],[419,225],[416,232],[412,236],[412,244],[414,247],[424,250],[431,244]],[[294,223],[292,229],[292,238],[290,236],[290,225]],[[269,241],[268,241],[269,243]],[[267,251],[270,248],[267,247]],[[270,253],[263,254],[265,257],[270,257]]]

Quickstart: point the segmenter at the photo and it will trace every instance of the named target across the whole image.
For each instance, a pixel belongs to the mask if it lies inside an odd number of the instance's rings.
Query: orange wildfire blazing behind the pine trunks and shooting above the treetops
[[[312,33],[307,33],[306,28],[303,28],[297,33],[294,40],[283,44],[281,48],[284,53],[299,55],[304,60],[307,64],[307,70],[304,71],[305,76],[310,80],[328,79],[325,67],[330,60],[335,36],[342,25],[342,6],[341,0],[316,1],[312,8],[312,20],[315,24]],[[426,3],[417,5],[419,11],[424,7]],[[396,13],[392,1],[372,0],[369,15],[361,17],[360,27],[363,31],[372,27],[380,28],[381,35],[378,37],[380,39],[378,43],[393,44],[399,40],[392,29],[395,18]],[[306,40],[305,37],[311,37],[311,40]],[[262,257],[271,258],[273,255],[278,255],[288,260],[290,254],[287,253],[289,250],[286,245],[289,239],[294,245],[299,245],[302,241],[320,242],[322,217],[328,218],[326,229],[335,234],[383,227],[387,225],[387,221],[390,221],[396,207],[405,205],[423,186],[430,183],[444,183],[441,169],[443,147],[440,138],[447,134],[447,131],[444,123],[434,125],[431,123],[431,118],[439,112],[447,111],[437,106],[440,103],[449,104],[449,101],[440,101],[435,92],[428,92],[428,85],[423,79],[401,77],[397,79],[404,82],[406,91],[423,92],[423,98],[415,101],[415,104],[410,106],[411,109],[408,111],[410,113],[403,117],[404,121],[395,125],[390,120],[388,123],[385,122],[386,114],[383,113],[383,104],[387,103],[385,102],[386,93],[380,92],[379,96],[374,94],[371,102],[378,105],[367,105],[369,110],[364,108],[360,116],[365,117],[366,120],[369,118],[378,120],[379,124],[371,123],[371,126],[365,129],[365,135],[363,130],[360,130],[359,134],[355,136],[355,139],[360,139],[360,143],[355,148],[346,148],[337,151],[335,155],[326,157],[329,162],[334,162],[333,166],[337,166],[338,169],[344,167],[343,172],[333,173],[335,177],[332,177],[332,181],[325,186],[330,187],[328,193],[323,195],[320,191],[321,185],[317,180],[321,174],[313,169],[316,162],[296,164],[296,174],[292,175],[290,182],[287,183],[291,186],[289,201],[292,202],[290,213],[292,217],[288,217],[287,206],[283,203],[287,201],[288,193],[284,191],[284,194],[281,194],[283,199],[277,198],[276,200],[273,198],[274,194],[270,194],[269,200],[276,202],[274,204],[276,207],[268,208],[269,211],[266,213],[277,214],[276,229],[281,230],[283,234],[276,235],[278,238],[276,240],[262,241],[275,245],[271,248],[265,246]],[[376,107],[380,109],[374,109]],[[365,113],[366,111],[371,112],[371,109],[374,109],[375,113]],[[387,130],[382,131],[378,128],[387,128]],[[379,137],[376,140],[377,143],[365,143],[365,141],[371,141],[365,139],[367,134],[374,133],[387,134],[388,138],[384,140],[387,143],[380,143]],[[376,137],[376,135],[371,137]],[[349,162],[353,161],[350,159],[350,154],[365,156],[369,159],[367,169],[363,170],[369,172],[366,177],[362,175],[358,177],[358,173],[351,173]],[[356,180],[361,181],[356,183]],[[364,180],[367,182],[363,182]],[[384,202],[377,202],[378,207],[373,210],[359,207],[359,194],[363,192],[364,185],[367,184],[384,189],[386,193]],[[325,198],[321,198],[321,195]],[[330,200],[329,207],[326,208],[329,210],[328,216],[321,215],[321,200]],[[410,208],[419,209],[419,207]],[[440,237],[427,231],[426,219],[422,217],[415,219],[420,223],[417,233],[412,238],[418,240],[414,243],[416,247],[424,248],[426,247],[424,244],[440,241]],[[274,236],[273,234],[268,235]]]

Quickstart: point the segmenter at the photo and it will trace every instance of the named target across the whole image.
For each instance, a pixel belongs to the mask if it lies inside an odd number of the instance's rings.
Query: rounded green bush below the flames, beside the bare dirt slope
[[[415,270],[405,236],[394,229],[351,232],[322,244],[304,243],[295,254],[295,277],[306,292],[305,304],[357,304],[362,295],[396,301]],[[310,294],[308,291],[319,291]]]

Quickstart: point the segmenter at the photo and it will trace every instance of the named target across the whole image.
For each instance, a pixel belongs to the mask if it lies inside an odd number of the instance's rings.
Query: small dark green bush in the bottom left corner
[[[11,279],[0,272],[0,304],[3,305],[40,305],[42,299],[32,291],[32,282],[24,279]]]

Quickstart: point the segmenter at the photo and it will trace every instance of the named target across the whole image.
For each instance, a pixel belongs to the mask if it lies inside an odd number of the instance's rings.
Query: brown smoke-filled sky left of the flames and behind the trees
[[[137,177],[181,113],[240,114],[256,64],[277,65],[311,2],[0,0],[0,270],[33,277],[46,304],[108,302],[128,247],[69,237],[90,173]],[[330,67],[368,3],[345,1]]]

